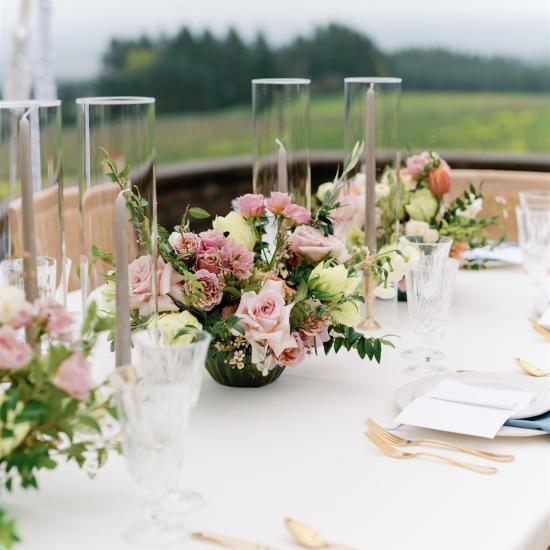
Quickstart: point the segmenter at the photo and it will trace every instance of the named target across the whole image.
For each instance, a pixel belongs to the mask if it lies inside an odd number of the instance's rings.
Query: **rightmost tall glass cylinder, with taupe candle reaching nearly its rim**
[[[364,244],[371,251],[389,251],[398,242],[403,184],[399,153],[401,79],[346,78],[344,87],[346,154],[351,156],[356,144],[364,147],[359,162],[347,177],[345,192],[350,200],[359,197],[363,203],[360,218]],[[372,276],[364,280],[362,328],[365,330],[380,328],[374,314],[375,289],[379,283]],[[393,281],[389,286],[394,292],[380,293],[386,298],[385,305],[376,304],[381,313],[378,317],[381,321],[382,317],[385,318],[383,324],[392,324],[396,315],[397,282]]]

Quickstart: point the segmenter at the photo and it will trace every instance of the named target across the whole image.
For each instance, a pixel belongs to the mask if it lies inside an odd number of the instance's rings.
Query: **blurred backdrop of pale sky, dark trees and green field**
[[[177,165],[249,155],[250,80],[276,76],[312,79],[314,154],[342,150],[343,78],[364,75],[403,78],[405,153],[550,152],[548,0],[44,5],[28,15],[31,35],[47,25],[31,51],[64,102],[69,175],[76,97],[156,97],[158,161]],[[20,21],[21,2],[0,0],[2,76]]]

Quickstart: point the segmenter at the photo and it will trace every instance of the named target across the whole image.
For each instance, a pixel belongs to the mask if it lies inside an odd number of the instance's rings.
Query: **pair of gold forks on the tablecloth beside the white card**
[[[491,453],[489,451],[482,451],[478,449],[473,449],[471,447],[463,447],[461,445],[455,445],[454,443],[449,443],[447,441],[441,441],[438,439],[404,439],[399,437],[396,434],[390,433],[382,426],[377,424],[372,418],[368,418],[364,422],[367,427],[365,435],[369,441],[378,447],[385,455],[397,459],[410,459],[410,458],[435,458],[443,462],[447,462],[454,466],[459,466],[461,468],[466,468],[478,474],[496,474],[497,468],[493,466],[481,466],[478,464],[472,464],[470,462],[464,462],[462,460],[451,458],[447,455],[441,455],[433,453],[430,451],[416,451],[416,452],[406,452],[402,451],[398,447],[419,447],[419,446],[430,446],[430,447],[444,447],[446,449],[451,449],[461,453],[477,456],[486,460],[492,460],[494,462],[512,462],[514,460],[513,455],[505,455],[498,453]]]

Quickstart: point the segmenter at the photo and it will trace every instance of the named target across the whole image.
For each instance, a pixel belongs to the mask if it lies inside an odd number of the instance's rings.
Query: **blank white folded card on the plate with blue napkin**
[[[504,422],[525,408],[533,397],[532,392],[491,390],[442,380],[409,403],[395,422],[493,438]]]

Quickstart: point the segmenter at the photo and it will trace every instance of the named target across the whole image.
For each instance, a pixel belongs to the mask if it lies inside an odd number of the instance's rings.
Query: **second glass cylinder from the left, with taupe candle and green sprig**
[[[106,274],[116,264],[117,364],[128,364],[130,310],[144,322],[157,311],[155,100],[92,97],[76,102],[83,307],[92,293],[98,303],[105,302]],[[142,212],[136,210],[138,196]],[[128,281],[129,271],[135,271],[128,265],[134,261],[138,276],[150,278],[139,295],[130,293]]]

